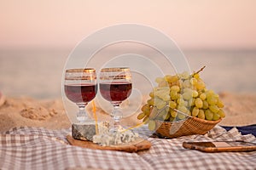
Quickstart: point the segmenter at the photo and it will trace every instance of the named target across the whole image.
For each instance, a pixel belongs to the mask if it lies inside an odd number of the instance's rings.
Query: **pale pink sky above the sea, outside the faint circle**
[[[0,48],[73,48],[120,23],[152,26],[181,48],[256,48],[254,0],[2,0]]]

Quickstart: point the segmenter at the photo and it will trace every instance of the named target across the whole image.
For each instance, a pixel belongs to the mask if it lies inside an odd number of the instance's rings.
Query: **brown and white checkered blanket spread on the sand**
[[[126,153],[90,150],[68,144],[70,129],[15,127],[0,134],[0,169],[256,169],[256,151],[204,153],[187,150],[183,141],[244,140],[256,143],[253,135],[241,135],[214,127],[206,135],[177,139],[148,138],[150,150]]]

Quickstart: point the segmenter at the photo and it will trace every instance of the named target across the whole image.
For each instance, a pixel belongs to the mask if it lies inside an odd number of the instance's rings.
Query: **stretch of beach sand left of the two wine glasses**
[[[6,97],[5,103],[0,106],[0,133],[20,126],[61,129],[70,127],[71,124],[61,99]]]

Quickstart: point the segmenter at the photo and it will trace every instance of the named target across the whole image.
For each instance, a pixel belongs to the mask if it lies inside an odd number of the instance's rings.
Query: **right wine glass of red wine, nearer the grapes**
[[[103,68],[100,72],[100,92],[103,99],[110,101],[113,105],[111,114],[112,122],[109,132],[115,133],[120,127],[120,104],[131,94],[131,72],[128,67]]]

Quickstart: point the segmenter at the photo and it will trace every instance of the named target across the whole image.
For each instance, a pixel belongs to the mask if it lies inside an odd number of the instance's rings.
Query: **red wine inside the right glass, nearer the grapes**
[[[108,101],[123,101],[131,94],[131,82],[100,83],[102,97]]]

